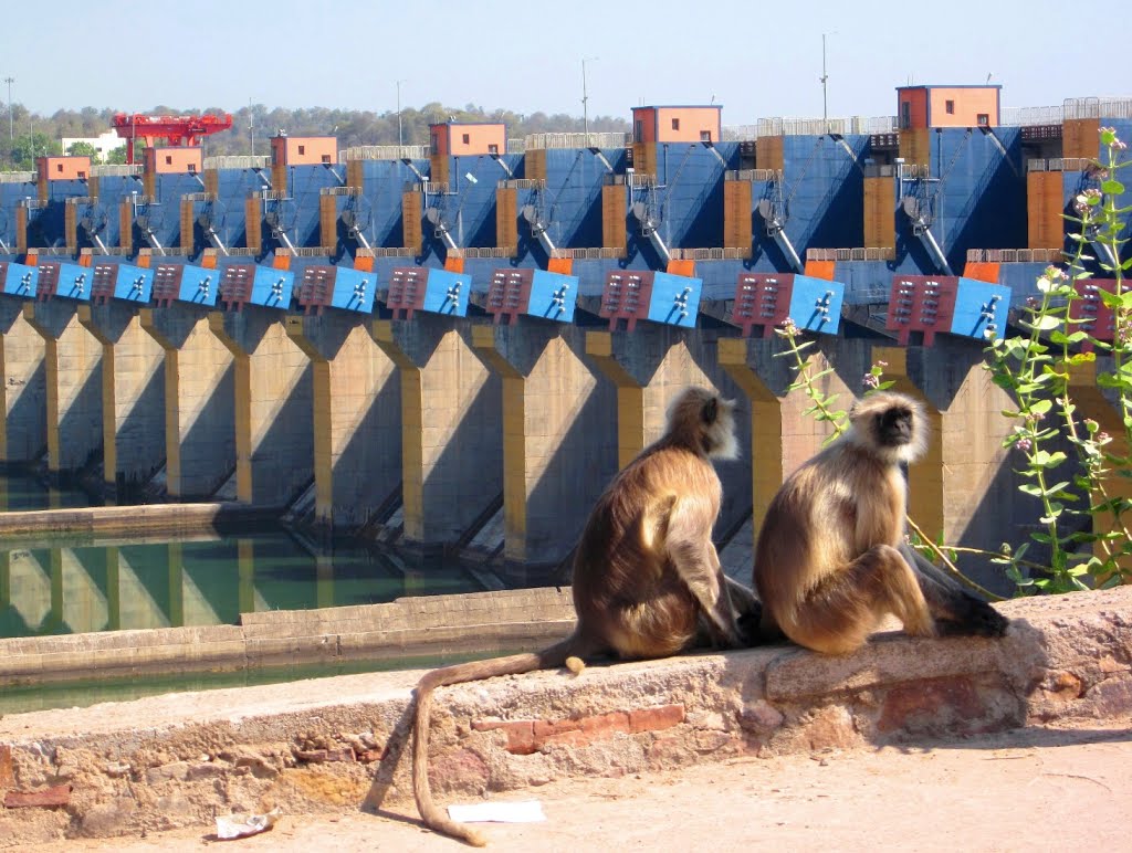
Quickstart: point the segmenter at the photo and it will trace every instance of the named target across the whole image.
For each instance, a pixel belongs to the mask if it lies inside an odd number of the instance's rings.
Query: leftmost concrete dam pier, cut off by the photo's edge
[[[0,299],[0,462],[31,462],[48,446],[44,352],[23,304]]]

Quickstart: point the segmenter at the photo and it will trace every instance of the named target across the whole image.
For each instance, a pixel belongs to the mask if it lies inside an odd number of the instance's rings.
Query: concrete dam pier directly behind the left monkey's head
[[[711,329],[677,329],[643,324],[634,331],[588,331],[585,353],[617,389],[618,467],[664,432],[668,404],[684,387],[700,385],[737,399],[736,437],[740,459],[717,462],[723,506],[715,536],[726,536],[751,516],[751,443],[746,405],[719,363],[719,336]]]

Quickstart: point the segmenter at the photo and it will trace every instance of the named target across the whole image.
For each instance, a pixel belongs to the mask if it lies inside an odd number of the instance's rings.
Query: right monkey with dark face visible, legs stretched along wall
[[[827,654],[852,652],[895,614],[916,637],[1001,637],[1007,620],[904,541],[901,463],[927,449],[916,399],[858,402],[849,430],[791,474],[771,501],[755,546],[754,585],[765,638],[781,631]]]

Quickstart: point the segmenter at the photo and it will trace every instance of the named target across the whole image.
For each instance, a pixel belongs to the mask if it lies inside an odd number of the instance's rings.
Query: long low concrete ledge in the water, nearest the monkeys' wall
[[[153,628],[0,640],[0,687],[98,675],[209,672],[360,658],[499,654],[569,634],[568,588],[398,598],[245,613],[239,626]]]

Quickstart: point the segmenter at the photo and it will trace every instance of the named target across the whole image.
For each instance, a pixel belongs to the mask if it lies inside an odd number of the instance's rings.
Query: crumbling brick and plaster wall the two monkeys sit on
[[[736,756],[917,742],[1132,712],[1132,588],[1005,603],[1007,637],[882,635],[846,657],[782,645],[540,672],[438,695],[440,796]],[[419,672],[155,697],[0,720],[0,846],[410,802]],[[50,793],[50,796],[48,795]],[[62,802],[60,802],[62,800]]]

